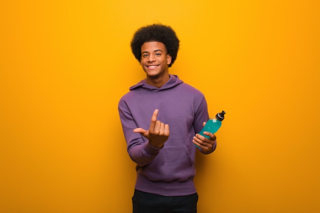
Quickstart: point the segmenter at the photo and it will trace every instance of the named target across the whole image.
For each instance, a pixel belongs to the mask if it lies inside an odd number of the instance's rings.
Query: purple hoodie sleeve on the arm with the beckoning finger
[[[152,147],[147,138],[140,133],[133,132],[133,129],[138,128],[138,126],[127,104],[122,99],[119,102],[118,110],[130,158],[140,167],[149,164],[157,156],[161,148]]]

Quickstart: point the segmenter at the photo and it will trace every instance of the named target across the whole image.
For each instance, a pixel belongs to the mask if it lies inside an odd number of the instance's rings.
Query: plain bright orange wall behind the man
[[[226,111],[199,212],[320,212],[319,1],[0,1],[0,212],[130,212],[117,104],[133,32],[171,25],[170,73]],[[304,117],[303,119],[301,117]]]

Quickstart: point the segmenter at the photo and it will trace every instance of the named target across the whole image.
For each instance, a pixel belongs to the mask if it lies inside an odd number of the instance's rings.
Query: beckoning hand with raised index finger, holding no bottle
[[[161,121],[156,120],[158,112],[159,110],[156,109],[152,114],[149,131],[144,130],[143,128],[136,128],[133,132],[140,133],[146,137],[151,146],[155,148],[162,148],[169,138],[170,131],[168,124],[164,124],[161,123]]]

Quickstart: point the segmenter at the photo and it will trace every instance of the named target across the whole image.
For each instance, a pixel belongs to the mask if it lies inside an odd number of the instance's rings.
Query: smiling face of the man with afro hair
[[[141,66],[148,78],[161,78],[168,75],[171,56],[165,44],[157,41],[145,42],[141,46]]]

